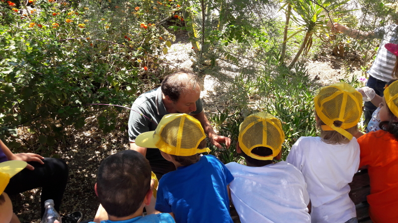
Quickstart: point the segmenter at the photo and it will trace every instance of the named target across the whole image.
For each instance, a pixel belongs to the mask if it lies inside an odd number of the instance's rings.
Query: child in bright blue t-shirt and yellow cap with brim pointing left
[[[214,156],[199,156],[210,151],[204,148],[205,138],[200,122],[191,115],[168,114],[155,131],[135,139],[137,146],[159,148],[177,168],[160,179],[155,205],[157,211],[174,216],[176,223],[233,223],[228,198],[233,176]]]

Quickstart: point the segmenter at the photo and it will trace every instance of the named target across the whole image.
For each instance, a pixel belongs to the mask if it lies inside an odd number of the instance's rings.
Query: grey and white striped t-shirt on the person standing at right
[[[368,73],[376,79],[389,82],[394,80],[391,75],[395,66],[397,57],[388,51],[384,45],[387,43],[398,44],[398,25],[392,24],[375,29],[374,33],[377,38],[382,39],[377,52],[375,61]]]

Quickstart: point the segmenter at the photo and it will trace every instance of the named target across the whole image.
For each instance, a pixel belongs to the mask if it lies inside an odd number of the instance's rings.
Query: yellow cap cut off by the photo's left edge
[[[19,160],[11,160],[0,163],[0,194],[4,192],[9,179],[26,167],[27,163]]]

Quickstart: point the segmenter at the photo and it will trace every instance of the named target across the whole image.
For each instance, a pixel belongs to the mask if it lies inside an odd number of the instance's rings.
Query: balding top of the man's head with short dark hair
[[[177,102],[180,96],[188,92],[199,92],[198,76],[191,71],[178,70],[165,77],[161,85],[162,93]]]

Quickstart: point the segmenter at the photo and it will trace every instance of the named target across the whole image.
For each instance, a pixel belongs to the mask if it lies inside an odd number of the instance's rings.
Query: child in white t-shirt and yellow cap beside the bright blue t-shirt
[[[266,112],[252,114],[239,127],[236,152],[247,166],[225,165],[234,176],[232,203],[242,223],[310,223],[309,197],[301,172],[281,159],[281,121]]]

